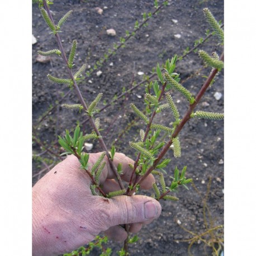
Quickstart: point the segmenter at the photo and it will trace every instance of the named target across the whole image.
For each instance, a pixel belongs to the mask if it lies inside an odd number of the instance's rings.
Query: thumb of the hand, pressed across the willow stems
[[[116,196],[109,199],[109,203],[105,208],[109,227],[153,220],[162,211],[160,203],[147,196]]]

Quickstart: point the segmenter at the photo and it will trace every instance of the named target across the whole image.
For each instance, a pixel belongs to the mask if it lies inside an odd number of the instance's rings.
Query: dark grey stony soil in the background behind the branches
[[[73,10],[73,15],[61,29],[61,39],[64,48],[69,52],[72,40],[78,41],[75,67],[79,68],[83,63],[93,65],[97,60],[112,48],[119,37],[125,37],[126,30],[132,31],[135,21],[142,20],[144,12],[153,12],[153,0],[129,0],[129,1],[54,1],[51,11],[55,21]],[[96,11],[96,7],[103,10],[102,15]],[[107,7],[107,8],[104,8]],[[119,96],[123,87],[131,88],[134,82],[144,80],[143,75],[151,75],[152,68],[172,58],[174,54],[181,56],[184,49],[193,47],[195,40],[205,37],[208,25],[203,17],[202,9],[208,7],[216,20],[224,20],[224,2],[211,0],[183,0],[172,1],[166,7],[160,9],[148,21],[148,26],[142,27],[134,37],[126,43],[125,48],[120,48],[116,55],[112,56],[103,67],[98,68],[102,74],[96,72],[86,77],[79,84],[79,88],[87,102],[92,102],[99,92],[103,92],[103,100],[111,102],[113,96]],[[37,50],[47,51],[57,48],[54,36],[45,25],[37,4],[32,6],[32,33],[37,43],[32,46],[32,73],[33,73],[33,125],[34,136],[37,138],[33,143],[33,171],[32,183],[42,177],[49,168],[60,161],[59,145],[56,143],[58,135],[64,134],[65,129],[73,130],[77,122],[83,125],[86,132],[91,129],[84,122],[84,115],[71,112],[61,107],[61,103],[79,103],[74,91],[68,93],[69,88],[63,84],[53,84],[47,78],[50,73],[55,77],[67,78],[65,67],[58,56],[52,56],[50,61],[41,63],[37,58]],[[177,22],[176,22],[177,21]],[[107,29],[115,29],[116,36],[109,36]],[[179,38],[177,35],[181,35]],[[208,53],[217,51],[220,55],[222,46],[218,45],[217,37],[212,36],[201,49]],[[97,71],[98,71],[97,70]],[[205,77],[211,68],[203,65],[196,53],[191,53],[177,62],[176,72],[180,74],[181,83],[196,94],[201,88]],[[155,78],[156,79],[156,78]],[[116,104],[112,104],[104,111],[98,113],[101,118],[102,135],[108,148],[115,143],[117,151],[135,158],[135,153],[129,148],[128,142],[138,140],[138,131],[143,124],[130,110],[129,103],[143,110],[146,82],[134,89],[131,93],[122,97]],[[224,111],[224,73],[220,72],[216,82],[207,90],[197,110],[223,112]],[[220,92],[222,97],[217,100],[214,97]],[[174,101],[181,116],[186,112],[188,103],[179,93],[172,92]],[[142,97],[141,97],[142,96]],[[53,109],[48,110],[51,106]],[[103,107],[103,101],[99,108]],[[48,113],[46,117],[41,117]],[[156,121],[168,125],[172,116],[163,112]],[[207,205],[211,212],[211,225],[206,224],[203,218],[203,200],[195,188],[189,184],[189,190],[179,189],[176,195],[178,202],[161,201],[162,215],[158,220],[143,227],[140,231],[139,241],[130,246],[130,255],[188,255],[188,242],[192,235],[183,230],[178,223],[201,234],[207,230],[207,226],[214,227],[224,224],[224,122],[211,120],[191,119],[188,121],[179,135],[182,146],[182,157],[174,158],[170,150],[168,157],[172,158],[168,166],[166,178],[172,176],[174,168],[182,169],[187,165],[187,177],[192,178],[196,188],[205,198],[207,184],[211,177],[211,187],[208,189]],[[42,144],[51,150],[51,153],[42,147]],[[93,149],[90,152],[101,151],[96,141],[93,141]],[[55,153],[55,154],[54,154]],[[143,192],[144,193],[144,192]],[[146,195],[150,192],[145,191]],[[223,238],[223,230],[217,230],[220,238]],[[204,236],[204,239],[213,238]],[[108,244],[113,254],[120,249],[121,245],[110,242]],[[212,249],[205,243],[198,241],[191,247],[193,255],[211,255]],[[92,255],[98,255],[94,250]]]

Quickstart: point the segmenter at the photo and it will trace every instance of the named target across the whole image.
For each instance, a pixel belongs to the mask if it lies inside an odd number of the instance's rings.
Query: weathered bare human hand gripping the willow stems
[[[91,166],[101,153],[90,154]],[[134,161],[116,153],[113,163],[122,164],[121,178],[129,182]],[[100,182],[106,193],[120,189],[113,178],[110,165],[106,164]],[[155,181],[150,174],[141,188],[149,189]],[[32,246],[33,255],[57,255],[79,248],[102,231],[110,238],[124,241],[126,231],[117,226],[131,224],[131,232],[138,232],[161,213],[160,203],[146,196],[93,196],[91,179],[80,169],[74,155],[56,165],[32,188]]]

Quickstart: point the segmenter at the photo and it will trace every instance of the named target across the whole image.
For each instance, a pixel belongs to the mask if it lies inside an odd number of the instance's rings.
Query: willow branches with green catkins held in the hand
[[[153,93],[145,93],[145,103],[149,106],[150,113],[145,115],[143,110],[140,110],[134,103],[130,104],[132,111],[137,115],[143,122],[144,127],[141,128],[138,136],[140,138],[138,141],[129,141],[129,145],[132,149],[138,152],[134,165],[131,166],[131,178],[127,187],[121,181],[120,175],[122,173],[121,165],[118,165],[116,168],[113,165],[113,159],[115,158],[116,149],[112,146],[111,149],[108,149],[104,138],[100,134],[100,120],[99,118],[94,118],[94,113],[96,113],[96,107],[101,101],[103,93],[99,93],[98,96],[91,102],[86,103],[80,90],[77,86],[77,82],[83,73],[86,70],[86,64],[83,64],[77,72],[73,72],[74,68],[74,56],[77,50],[77,40],[73,40],[72,48],[69,55],[67,56],[63,45],[61,44],[61,39],[59,36],[60,29],[64,25],[65,21],[68,20],[72,11],[66,13],[59,22],[55,25],[51,12],[49,10],[49,4],[52,4],[51,1],[39,0],[40,11],[42,17],[44,18],[46,24],[51,30],[58,43],[59,49],[53,49],[50,51],[38,51],[41,55],[58,55],[63,58],[65,67],[67,68],[67,78],[58,78],[54,77],[51,74],[48,74],[47,77],[51,82],[67,84],[70,89],[74,89],[79,98],[80,104],[63,104],[63,107],[69,108],[70,110],[78,109],[83,111],[89,123],[93,129],[91,134],[84,135],[83,131],[80,130],[80,127],[75,127],[73,135],[70,135],[70,132],[66,130],[65,136],[59,136],[59,144],[65,149],[65,152],[61,155],[74,154],[75,157],[79,159],[80,167],[88,174],[91,178],[91,192],[92,195],[98,195],[102,197],[114,197],[120,195],[132,196],[134,192],[139,193],[140,184],[144,179],[151,173],[155,177],[158,177],[160,182],[160,187],[157,186],[157,183],[153,183],[152,197],[156,200],[172,200],[178,201],[177,197],[172,195],[173,191],[176,191],[178,187],[187,188],[187,184],[192,181],[190,178],[186,178],[187,167],[183,167],[182,170],[179,170],[178,167],[174,168],[173,177],[170,181],[165,181],[163,173],[167,173],[167,165],[170,162],[170,158],[165,158],[165,154],[170,151],[170,148],[173,148],[173,155],[175,158],[181,157],[181,144],[179,139],[179,132],[183,129],[183,126],[190,118],[208,118],[211,120],[220,120],[224,118],[222,113],[214,112],[205,112],[205,111],[196,111],[194,112],[198,102],[202,98],[206,89],[212,83],[217,72],[220,72],[224,68],[224,53],[221,54],[220,58],[216,53],[212,55],[207,54],[205,51],[200,50],[198,52],[199,56],[205,61],[207,65],[212,67],[210,74],[208,75],[205,83],[201,87],[200,91],[193,95],[189,92],[188,89],[184,88],[180,82],[181,78],[179,74],[175,72],[176,61],[178,56],[173,56],[172,59],[165,61],[163,69],[159,67],[159,64],[156,67],[158,80],[153,80],[149,84],[149,89]],[[159,8],[155,1],[155,7]],[[211,12],[205,8],[203,10],[205,17],[208,23],[210,23],[215,34],[221,40],[221,44],[224,42],[223,30],[220,27],[220,24],[212,16]],[[146,17],[145,17],[146,20]],[[173,101],[172,94],[174,92],[180,93],[184,98],[187,99],[188,109],[183,117],[181,117],[176,104]],[[164,126],[155,122],[156,115],[162,115],[163,111],[171,111],[173,116],[173,122],[170,126]],[[149,111],[148,111],[149,112]],[[165,132],[168,134],[168,140],[159,140],[160,134]],[[83,151],[85,141],[89,139],[97,139],[102,148],[102,154],[98,158],[97,162],[91,167],[88,165],[90,155]],[[115,173],[116,181],[118,182],[120,189],[110,193],[105,193],[101,186],[99,186],[99,177],[101,176],[102,170],[106,165],[106,161],[110,163],[110,166]],[[125,225],[125,229],[129,234],[130,225]],[[127,255],[127,245],[130,243],[130,238],[125,240],[124,248],[120,251],[120,255]]]

